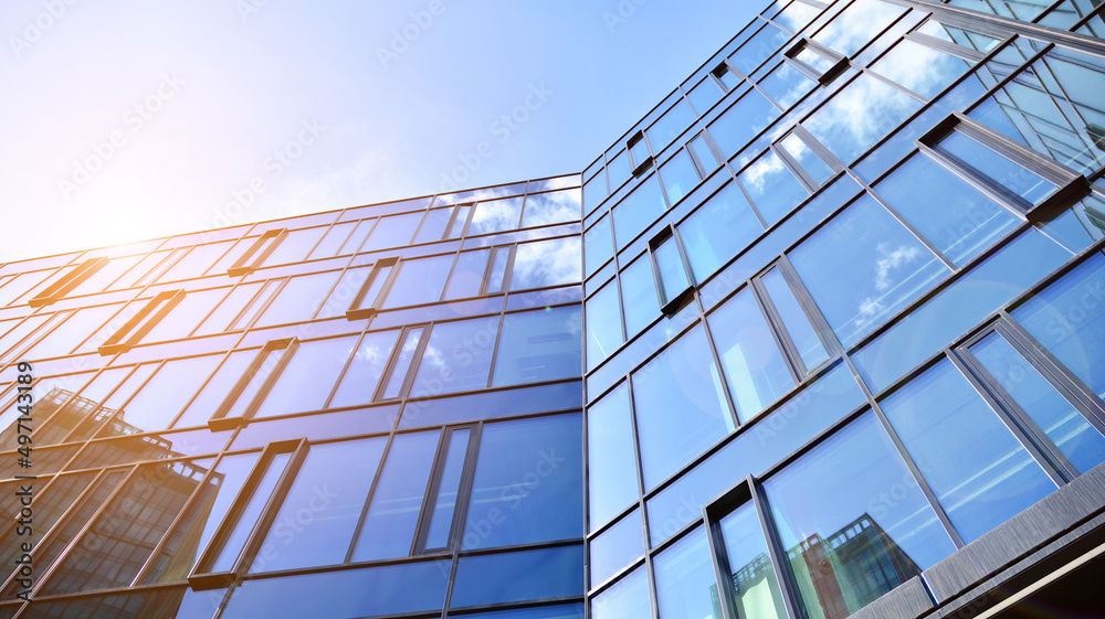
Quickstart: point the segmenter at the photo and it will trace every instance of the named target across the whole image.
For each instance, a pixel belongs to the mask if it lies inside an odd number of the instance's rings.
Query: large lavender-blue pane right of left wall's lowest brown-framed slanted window
[[[345,562],[386,442],[370,438],[312,447],[250,572]]]

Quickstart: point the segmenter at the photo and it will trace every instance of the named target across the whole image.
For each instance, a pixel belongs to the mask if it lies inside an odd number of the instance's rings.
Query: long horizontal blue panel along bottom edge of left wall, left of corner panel
[[[249,580],[234,589],[221,617],[355,619],[436,610],[445,601],[449,561],[407,563]],[[341,591],[303,595],[302,591]]]

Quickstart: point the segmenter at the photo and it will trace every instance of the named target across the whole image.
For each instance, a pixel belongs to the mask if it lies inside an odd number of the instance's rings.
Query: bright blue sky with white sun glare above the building
[[[6,2],[0,260],[579,172],[762,4]]]

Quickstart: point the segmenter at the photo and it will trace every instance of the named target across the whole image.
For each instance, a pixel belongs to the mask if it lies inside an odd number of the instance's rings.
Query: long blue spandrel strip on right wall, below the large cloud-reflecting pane
[[[860,349],[852,361],[878,393],[1070,257],[1029,228]]]

